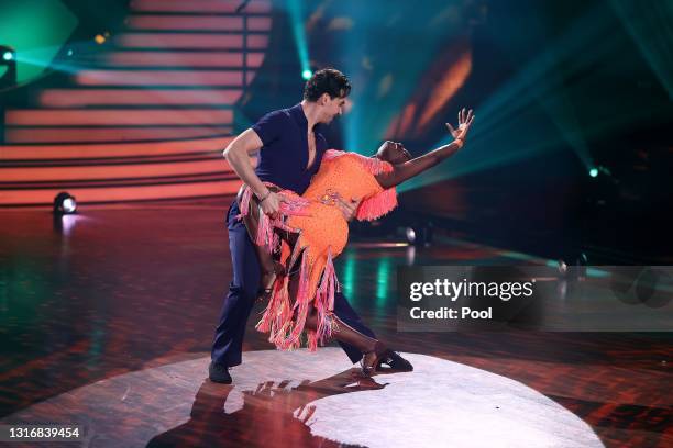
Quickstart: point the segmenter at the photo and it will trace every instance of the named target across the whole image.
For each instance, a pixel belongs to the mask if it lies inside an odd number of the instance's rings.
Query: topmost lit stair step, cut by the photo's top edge
[[[131,10],[152,11],[152,12],[200,12],[200,13],[236,13],[243,0],[133,0]],[[243,10],[245,13],[268,13],[271,12],[269,1],[251,1]]]

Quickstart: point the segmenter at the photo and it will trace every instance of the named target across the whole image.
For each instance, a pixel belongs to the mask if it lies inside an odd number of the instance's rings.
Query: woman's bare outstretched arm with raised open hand
[[[472,110],[465,112],[463,109],[461,112],[459,112],[457,130],[454,130],[451,124],[446,123],[451,135],[454,137],[453,142],[448,145],[440,146],[439,148],[423,154],[420,157],[405,161],[404,164],[394,165],[393,171],[377,175],[376,180],[384,189],[388,189],[420,175],[421,172],[438,165],[440,161],[451,157],[465,144],[465,138],[467,137],[467,132],[470,131],[470,126],[472,126],[473,121],[474,114],[472,113]]]

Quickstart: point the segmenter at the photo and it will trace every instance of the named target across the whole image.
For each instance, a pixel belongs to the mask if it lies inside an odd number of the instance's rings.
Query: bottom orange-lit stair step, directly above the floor
[[[54,202],[56,194],[64,190],[73,194],[77,199],[77,203],[81,206],[87,203],[227,197],[235,194],[239,187],[241,187],[241,181],[235,179],[128,187],[58,187],[0,190],[0,204],[4,206],[49,206]]]

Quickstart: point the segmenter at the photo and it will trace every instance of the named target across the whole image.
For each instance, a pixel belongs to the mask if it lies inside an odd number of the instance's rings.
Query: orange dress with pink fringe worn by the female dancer
[[[334,292],[339,288],[332,260],[349,239],[349,225],[335,205],[335,198],[363,199],[355,217],[375,220],[397,206],[395,188],[384,190],[374,177],[391,170],[390,164],[378,158],[330,149],[301,197],[283,191],[290,201],[282,205],[282,217],[272,221],[261,214],[256,243],[272,248],[280,245],[280,261],[286,266],[300,262],[297,296],[289,296],[288,277],[276,279],[268,305],[256,326],[261,332],[268,332],[268,340],[277,348],[287,350],[301,346],[310,306],[317,310],[318,328],[316,332],[306,329],[308,348],[316,350],[319,341],[322,344],[331,336],[329,315],[334,310]],[[241,208],[244,211],[251,194],[247,190]],[[275,228],[298,229],[300,235],[295,246],[289,247],[280,240]]]

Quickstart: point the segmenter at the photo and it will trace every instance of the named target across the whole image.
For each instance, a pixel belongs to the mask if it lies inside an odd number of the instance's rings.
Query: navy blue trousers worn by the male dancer
[[[245,225],[234,219],[238,213],[239,208],[234,205],[229,209],[227,216],[233,279],[222,304],[210,355],[214,362],[229,367],[241,363],[245,325],[260,288],[260,261]],[[336,292],[334,296],[334,313],[351,327],[369,337],[376,337],[341,292]],[[342,343],[339,345],[352,362],[360,361],[362,352],[357,348]]]

